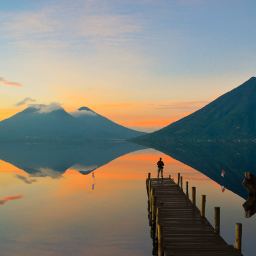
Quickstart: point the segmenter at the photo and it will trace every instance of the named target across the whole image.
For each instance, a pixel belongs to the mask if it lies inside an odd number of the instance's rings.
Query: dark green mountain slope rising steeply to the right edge
[[[228,139],[256,139],[256,77],[195,113],[134,141]]]

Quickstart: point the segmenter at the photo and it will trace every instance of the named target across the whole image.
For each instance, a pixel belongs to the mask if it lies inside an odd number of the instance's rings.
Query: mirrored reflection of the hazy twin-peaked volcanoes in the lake
[[[147,147],[125,141],[86,143],[1,143],[0,159],[29,173],[29,177],[60,179],[67,169],[83,175],[130,152]],[[31,184],[36,179],[18,179]]]

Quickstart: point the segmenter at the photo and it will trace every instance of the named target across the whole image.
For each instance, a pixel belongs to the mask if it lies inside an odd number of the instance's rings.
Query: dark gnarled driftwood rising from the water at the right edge
[[[244,175],[243,186],[248,191],[248,198],[243,204],[244,216],[250,218],[256,213],[256,176],[250,172],[245,172]]]

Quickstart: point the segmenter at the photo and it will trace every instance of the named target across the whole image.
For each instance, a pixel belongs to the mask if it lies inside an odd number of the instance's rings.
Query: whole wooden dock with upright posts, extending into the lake
[[[195,205],[195,188],[192,202],[188,198],[188,182],[183,192],[182,177],[177,184],[171,177],[147,179],[148,218],[153,239],[153,255],[243,255],[241,253],[241,224],[237,223],[236,248],[220,236],[220,207],[215,207],[215,228]]]

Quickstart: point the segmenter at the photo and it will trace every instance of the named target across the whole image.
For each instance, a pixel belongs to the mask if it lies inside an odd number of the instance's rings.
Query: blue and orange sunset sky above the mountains
[[[256,2],[1,0],[0,120],[87,106],[156,131],[256,76]]]

